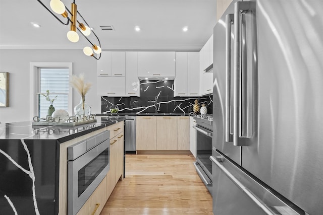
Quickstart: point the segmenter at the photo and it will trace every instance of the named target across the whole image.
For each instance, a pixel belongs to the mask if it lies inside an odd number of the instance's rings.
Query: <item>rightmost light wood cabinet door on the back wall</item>
[[[190,150],[190,117],[177,117],[177,150]]]

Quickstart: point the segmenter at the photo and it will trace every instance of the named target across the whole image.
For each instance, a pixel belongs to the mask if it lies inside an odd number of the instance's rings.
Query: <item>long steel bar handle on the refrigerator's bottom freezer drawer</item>
[[[227,170],[216,158],[210,156],[210,160],[216,164],[230,180],[236,184],[248,197],[251,198],[266,214],[275,215],[277,214],[271,208],[269,208],[261,199],[259,199],[253,192],[251,192],[246,186],[244,186],[234,175],[232,175],[229,170]]]

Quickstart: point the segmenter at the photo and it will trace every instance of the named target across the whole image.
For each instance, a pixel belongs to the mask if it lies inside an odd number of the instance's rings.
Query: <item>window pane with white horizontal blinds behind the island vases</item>
[[[49,99],[57,96],[53,101],[55,110],[68,111],[69,98],[69,68],[41,68],[39,67],[40,92],[38,92],[38,116],[46,117],[50,102],[41,93],[49,90]]]

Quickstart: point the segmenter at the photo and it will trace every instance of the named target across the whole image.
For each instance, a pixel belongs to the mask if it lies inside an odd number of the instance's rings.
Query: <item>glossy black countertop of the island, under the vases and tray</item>
[[[77,126],[39,126],[32,125],[32,121],[5,123],[0,124],[0,139],[48,139],[62,143],[123,120],[125,117],[101,117],[96,123]]]

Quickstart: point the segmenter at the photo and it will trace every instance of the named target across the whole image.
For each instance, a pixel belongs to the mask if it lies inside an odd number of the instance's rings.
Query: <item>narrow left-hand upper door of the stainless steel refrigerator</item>
[[[234,0],[233,3],[237,2]],[[241,164],[241,147],[233,146],[233,12],[231,4],[213,29],[212,146]]]

